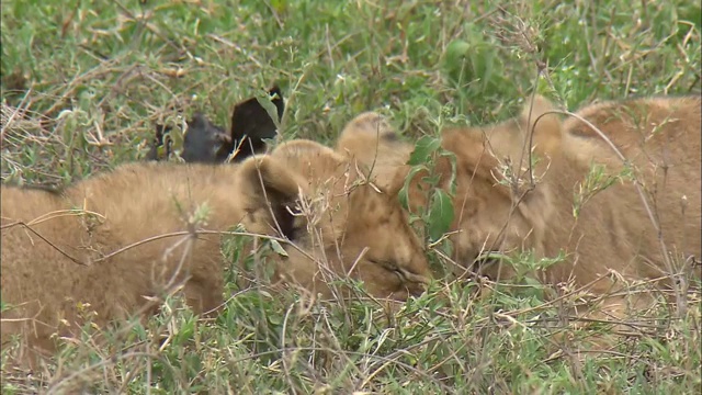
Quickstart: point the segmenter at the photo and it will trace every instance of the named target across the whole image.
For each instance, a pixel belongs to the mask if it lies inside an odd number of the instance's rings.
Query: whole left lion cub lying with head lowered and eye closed
[[[220,233],[237,224],[284,238],[281,281],[329,296],[331,273],[377,297],[419,294],[431,273],[395,193],[307,140],[235,166],[124,165],[60,192],[2,185],[3,345],[22,334],[50,351],[82,315],[102,327],[154,313],[148,300],[177,289],[196,313],[216,312]]]

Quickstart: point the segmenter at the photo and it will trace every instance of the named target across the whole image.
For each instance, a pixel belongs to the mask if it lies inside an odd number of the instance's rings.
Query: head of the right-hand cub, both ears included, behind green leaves
[[[543,228],[535,228],[534,223],[544,223],[553,215],[548,208],[551,192],[533,189],[530,178],[543,174],[559,153],[561,121],[550,113],[552,110],[552,104],[537,95],[533,103],[526,102],[518,117],[509,121],[442,131],[442,148],[456,160],[453,199],[456,215],[451,229],[461,230],[452,239],[454,258],[463,267],[484,261],[485,252],[519,249],[525,239],[537,242],[542,236]],[[382,184],[398,184],[410,173],[405,163],[414,147],[399,140],[376,113],[361,114],[349,123],[337,147],[363,166],[373,167],[384,181]],[[448,190],[451,159],[434,160],[438,187]],[[530,168],[530,162],[535,166]],[[414,173],[408,184],[411,211],[428,205],[427,176],[427,171]]]

